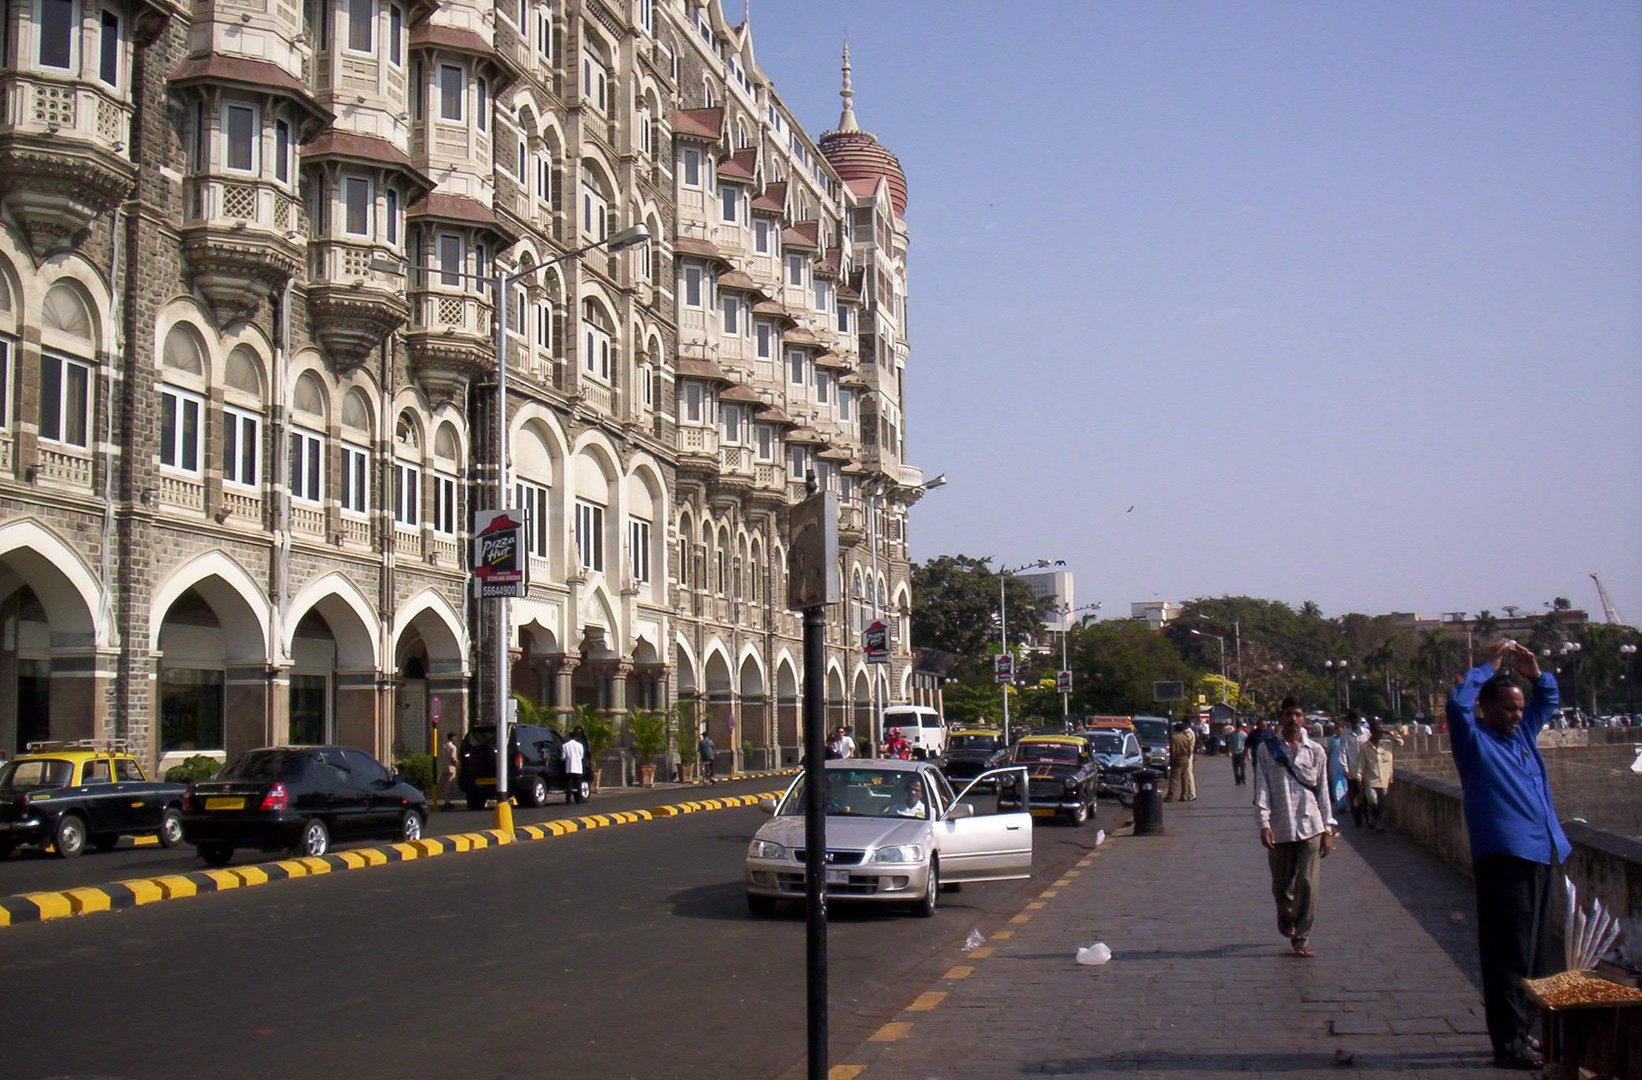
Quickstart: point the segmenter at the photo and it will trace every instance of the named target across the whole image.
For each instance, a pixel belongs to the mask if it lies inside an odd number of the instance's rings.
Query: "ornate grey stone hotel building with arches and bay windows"
[[[870,724],[874,607],[882,696],[913,696],[906,182],[847,54],[814,140],[716,0],[5,13],[0,747],[386,758],[491,716],[498,300],[514,689],[696,702],[749,765],[795,760],[813,469],[842,501],[829,721]]]

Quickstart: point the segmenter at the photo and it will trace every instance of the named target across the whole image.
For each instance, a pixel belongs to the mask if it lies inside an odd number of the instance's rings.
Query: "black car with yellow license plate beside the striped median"
[[[264,747],[235,757],[182,803],[207,865],[235,849],[323,855],[332,840],[417,840],[427,796],[356,747]]]

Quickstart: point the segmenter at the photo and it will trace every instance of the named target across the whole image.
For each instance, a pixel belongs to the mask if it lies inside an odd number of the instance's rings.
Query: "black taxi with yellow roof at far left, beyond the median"
[[[123,835],[182,842],[184,785],[149,780],[120,742],[31,742],[0,768],[0,858],[51,845],[72,858],[107,852]]]

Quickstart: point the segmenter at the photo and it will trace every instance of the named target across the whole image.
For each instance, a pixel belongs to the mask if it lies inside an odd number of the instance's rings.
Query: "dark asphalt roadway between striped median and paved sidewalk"
[[[745,914],[762,821],[691,814],[11,927],[0,1072],[775,1077],[805,1054],[805,921]],[[834,908],[834,1055],[1094,835],[1039,824],[1031,881],[943,895],[934,919]]]

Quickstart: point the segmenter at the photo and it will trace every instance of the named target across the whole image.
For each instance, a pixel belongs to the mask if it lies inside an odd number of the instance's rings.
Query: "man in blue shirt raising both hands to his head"
[[[1532,1014],[1522,980],[1548,973],[1553,963],[1553,870],[1570,852],[1539,752],[1540,729],[1560,696],[1557,680],[1540,671],[1532,650],[1496,642],[1488,653],[1489,661],[1471,668],[1448,693],[1448,739],[1471,834],[1476,937],[1494,1065],[1539,1069],[1543,1057],[1529,1036]],[[1532,702],[1506,668],[1532,684]]]

